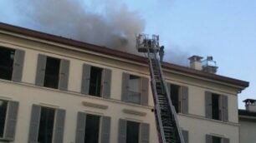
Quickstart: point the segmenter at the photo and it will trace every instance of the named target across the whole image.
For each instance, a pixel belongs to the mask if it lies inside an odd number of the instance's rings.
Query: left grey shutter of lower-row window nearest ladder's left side
[[[118,143],[126,142],[126,124],[127,121],[124,119],[119,120]]]

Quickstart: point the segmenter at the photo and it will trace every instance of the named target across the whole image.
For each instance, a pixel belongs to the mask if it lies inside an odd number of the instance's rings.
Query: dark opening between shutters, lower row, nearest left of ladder
[[[126,143],[139,143],[140,123],[127,121]]]

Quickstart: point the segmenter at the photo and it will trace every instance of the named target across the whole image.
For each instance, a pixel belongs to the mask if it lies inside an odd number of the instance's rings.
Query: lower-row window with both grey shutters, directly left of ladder
[[[118,142],[149,143],[149,124],[120,119],[118,132]]]

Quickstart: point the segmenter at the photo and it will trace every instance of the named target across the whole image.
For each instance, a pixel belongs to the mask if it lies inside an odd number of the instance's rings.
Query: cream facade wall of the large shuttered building
[[[64,142],[74,142],[74,131],[76,125],[77,111],[91,112],[97,115],[111,116],[111,136],[110,142],[115,143],[118,135],[118,120],[120,118],[131,121],[140,121],[151,124],[150,141],[157,142],[155,117],[151,108],[153,99],[151,88],[149,87],[150,107],[136,106],[134,104],[120,101],[121,94],[121,76],[122,72],[129,72],[137,76],[149,77],[148,67],[145,65],[133,64],[113,57],[104,57],[99,53],[95,55],[90,52],[74,52],[72,47],[59,48],[58,44],[49,45],[41,42],[23,40],[17,37],[9,37],[0,34],[0,45],[6,47],[20,48],[25,50],[25,61],[23,68],[23,83],[13,83],[12,81],[0,80],[0,96],[11,98],[13,101],[20,101],[17,124],[17,142],[27,142],[28,127],[30,121],[30,112],[32,104],[42,104],[44,106],[54,106],[63,108],[67,111],[64,131]],[[52,90],[49,88],[33,86],[36,76],[38,53],[47,56],[64,58],[70,61],[69,71],[69,91]],[[109,68],[112,70],[111,93],[109,100],[82,96],[81,76],[83,63],[92,66]],[[230,138],[231,142],[238,141],[238,103],[237,89],[233,86],[218,84],[215,81],[205,81],[205,79],[196,79],[180,73],[165,72],[166,79],[169,82],[188,86],[189,89],[189,115],[178,115],[180,125],[183,129],[189,131],[190,143],[205,142],[206,134],[218,134]],[[149,77],[150,78],[150,77]],[[228,96],[228,118],[229,123],[222,121],[207,120],[205,116],[204,91],[212,91],[218,94]],[[1,98],[0,97],[0,98]],[[82,101],[90,101],[100,105],[108,106],[108,109],[98,109],[86,107],[81,104]],[[123,109],[142,111],[146,116],[129,115],[123,112]],[[68,130],[67,130],[68,129]],[[113,136],[114,135],[114,136]]]

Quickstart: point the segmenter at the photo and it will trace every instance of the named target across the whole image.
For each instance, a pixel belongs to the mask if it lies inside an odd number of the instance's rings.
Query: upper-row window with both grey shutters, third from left
[[[83,65],[81,93],[110,98],[111,70]]]

